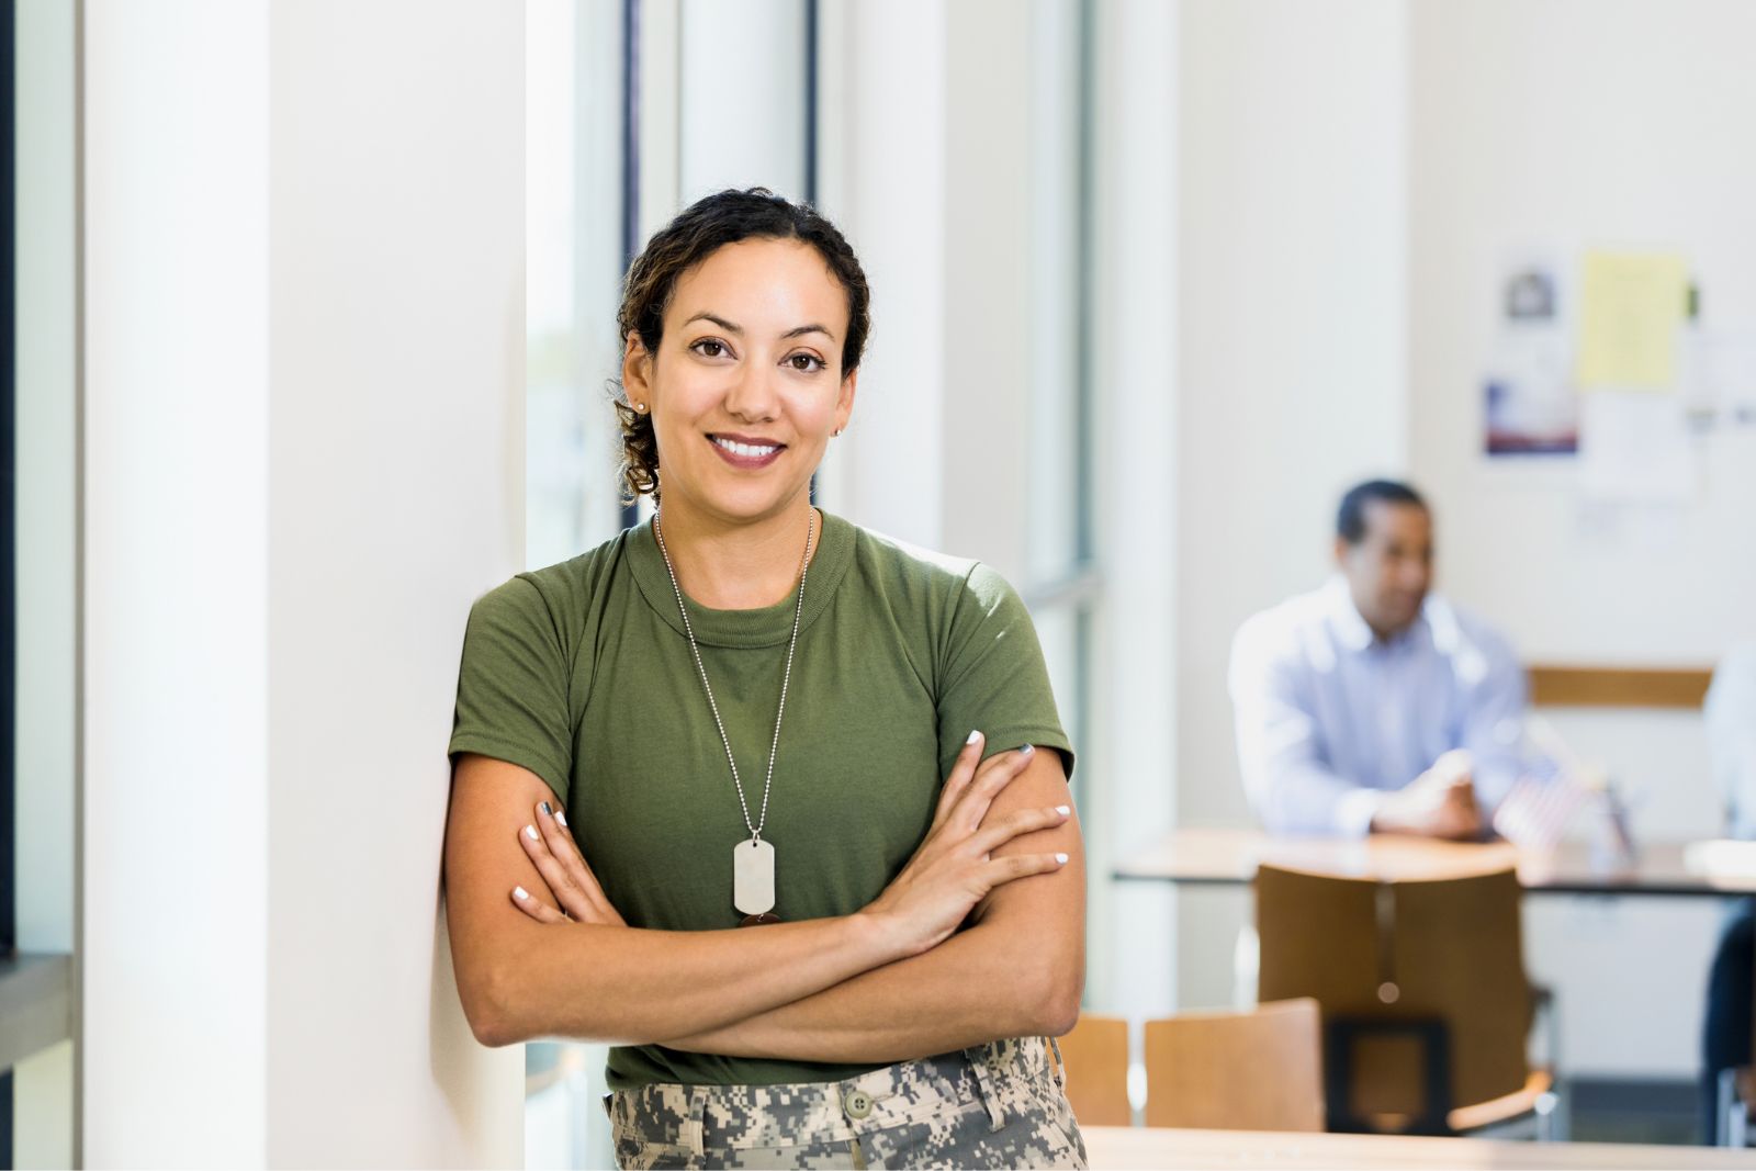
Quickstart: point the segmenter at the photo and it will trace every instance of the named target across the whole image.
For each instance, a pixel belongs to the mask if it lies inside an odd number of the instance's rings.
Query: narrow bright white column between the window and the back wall
[[[1098,4],[1094,37],[1092,386],[1094,525],[1105,572],[1098,614],[1098,781],[1092,1001],[1136,1018],[1173,1008],[1175,901],[1157,887],[1110,885],[1110,867],[1175,820],[1180,597],[1177,460],[1178,93],[1177,5]],[[1113,1008],[1112,1008],[1113,1006]]]

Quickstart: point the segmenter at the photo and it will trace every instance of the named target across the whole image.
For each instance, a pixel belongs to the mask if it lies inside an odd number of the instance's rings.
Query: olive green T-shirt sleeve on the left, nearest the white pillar
[[[565,804],[572,774],[567,657],[536,585],[513,578],[469,611],[451,758],[472,751],[541,776]]]

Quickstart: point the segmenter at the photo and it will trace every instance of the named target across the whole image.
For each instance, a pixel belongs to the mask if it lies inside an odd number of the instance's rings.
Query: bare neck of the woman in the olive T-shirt
[[[727,525],[664,504],[657,523],[683,593],[709,609],[760,609],[785,600],[799,585],[808,523],[817,555],[824,521],[813,513],[810,499],[802,499],[774,516]]]

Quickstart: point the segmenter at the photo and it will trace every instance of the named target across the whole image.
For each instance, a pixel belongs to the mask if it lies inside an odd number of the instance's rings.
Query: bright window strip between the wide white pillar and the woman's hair
[[[551,565],[623,525],[616,304],[629,225],[627,49],[637,4],[525,5],[525,564]],[[525,1166],[613,1166],[601,1045],[525,1046]]]

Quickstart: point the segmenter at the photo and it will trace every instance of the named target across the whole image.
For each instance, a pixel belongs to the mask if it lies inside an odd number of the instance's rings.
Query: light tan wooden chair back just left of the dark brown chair
[[[1317,1001],[1148,1020],[1147,1125],[1322,1131]]]

